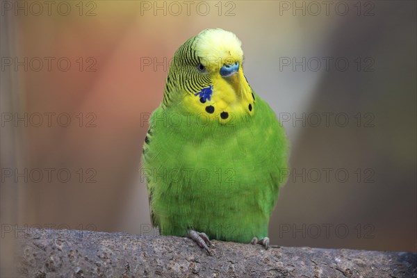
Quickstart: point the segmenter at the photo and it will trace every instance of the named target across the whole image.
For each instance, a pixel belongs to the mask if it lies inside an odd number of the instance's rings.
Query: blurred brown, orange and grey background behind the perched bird
[[[291,142],[272,244],[417,251],[415,1],[0,3],[2,265],[22,227],[154,234],[147,118],[204,28]]]

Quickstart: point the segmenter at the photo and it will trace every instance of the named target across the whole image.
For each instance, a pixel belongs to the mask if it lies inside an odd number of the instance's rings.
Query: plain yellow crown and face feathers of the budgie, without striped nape
[[[211,120],[227,123],[243,115],[254,114],[254,97],[243,74],[243,50],[234,33],[222,29],[204,30],[195,38],[195,52],[202,65],[211,75],[212,95],[204,105],[195,95],[186,96],[186,107],[190,112],[208,115]],[[238,72],[224,77],[220,69],[224,65],[238,63]],[[201,113],[201,114],[200,114]]]

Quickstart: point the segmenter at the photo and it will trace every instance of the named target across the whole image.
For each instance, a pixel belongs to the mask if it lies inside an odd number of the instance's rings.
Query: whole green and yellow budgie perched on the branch
[[[152,224],[208,254],[209,238],[268,248],[287,169],[284,129],[247,82],[240,46],[206,29],[179,47],[143,147]]]

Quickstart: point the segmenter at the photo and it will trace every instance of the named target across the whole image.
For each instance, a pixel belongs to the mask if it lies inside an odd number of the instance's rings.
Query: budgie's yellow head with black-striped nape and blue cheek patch
[[[211,120],[253,115],[254,95],[243,74],[240,46],[234,33],[222,29],[206,29],[187,40],[172,60],[164,104],[183,92],[183,107]]]

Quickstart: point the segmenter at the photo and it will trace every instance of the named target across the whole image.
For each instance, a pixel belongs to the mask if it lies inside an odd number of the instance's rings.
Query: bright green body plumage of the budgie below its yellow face
[[[188,47],[195,50],[190,41]],[[190,113],[193,108],[183,99],[197,98],[194,93],[218,78],[210,72],[204,82],[194,79],[197,89],[187,92],[179,83],[179,68],[188,67],[183,63],[198,65],[199,56],[193,59],[172,65],[165,86],[170,101],[149,120],[142,175],[147,177],[152,224],[163,235],[186,236],[193,229],[211,239],[241,243],[264,238],[287,167],[284,129],[252,89],[252,114],[230,113],[228,122],[220,122],[204,113]],[[215,93],[211,101],[218,109]]]

